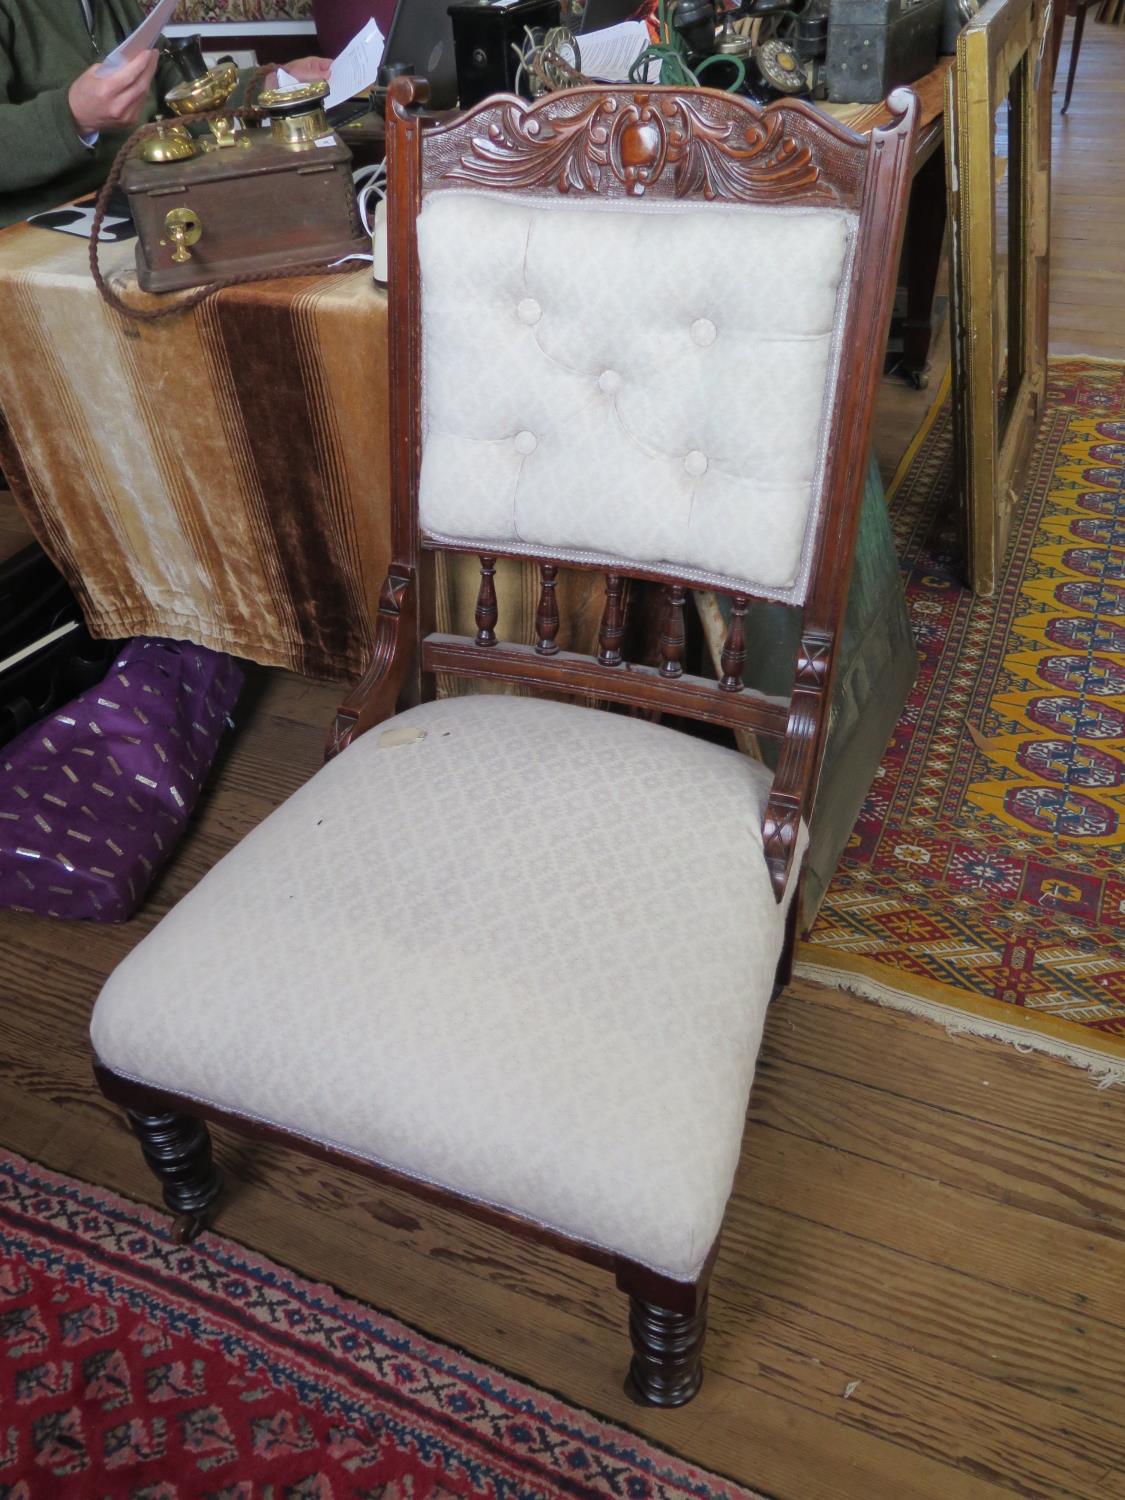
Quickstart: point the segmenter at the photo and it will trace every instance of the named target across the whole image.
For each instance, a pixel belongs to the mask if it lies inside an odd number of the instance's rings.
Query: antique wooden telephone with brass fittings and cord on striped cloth
[[[99,194],[90,267],[106,302],[152,320],[219,286],[310,274],[369,249],[351,152],[324,116],[326,82],[267,90],[254,105],[231,108],[238,84],[232,62],[200,68],[189,57],[184,70],[165,96],[176,118],[134,132]],[[195,288],[192,298],[138,310],[105,284],[98,230],[118,182],[136,225],[141,288]]]

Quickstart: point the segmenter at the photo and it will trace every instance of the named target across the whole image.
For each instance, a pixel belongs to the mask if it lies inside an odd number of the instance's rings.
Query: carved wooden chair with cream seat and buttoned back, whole
[[[614,1272],[630,1389],[678,1406],[788,974],[916,100],[866,140],[632,86],[423,135],[422,99],[388,104],[372,666],[328,765],[110,978],[96,1074],[182,1238],[204,1120],[296,1144]],[[442,549],[480,556],[474,638],[434,628]],[[538,570],[531,642],[500,556]],[[596,656],[558,648],[561,567],[606,574]],[[656,668],[622,660],[630,579],[666,590]],[[720,681],[682,666],[693,586],[734,597]],[[802,612],[788,699],[742,687],[752,596]],[[772,738],[776,776],[662,716]]]

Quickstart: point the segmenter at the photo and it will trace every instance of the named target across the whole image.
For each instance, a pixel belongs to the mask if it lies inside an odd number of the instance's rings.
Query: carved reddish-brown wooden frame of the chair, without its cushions
[[[375,621],[374,652],[362,682],[346,698],[328,734],[334,756],[398,708],[435,693],[435,674],[520,684],[550,696],[594,698],[648,717],[688,717],[780,741],[764,816],[764,844],[776,898],[786,891],[798,825],[812,810],[846,603],[868,429],[890,320],[918,106],[909,90],[891,99],[892,122],[858,136],[806,104],[766,110],[710,90],[658,87],[576,88],[526,104],[513,96],[484,100],[423,135],[424,84],[396,80],[387,105],[390,214],[390,432],[392,564]],[[562,651],[555,582],[574,564],[543,555],[532,645],[496,636],[496,554],[482,556],[474,638],[434,630],[434,552],[418,526],[422,462],[422,308],[416,219],[423,192],[441,186],[492,192],[588,194],[618,198],[700,196],[728,202],[840,206],[858,213],[855,267],[843,330],[825,474],[816,522],[813,568],[806,594],[792,696],[786,702],[742,686],[748,596],[734,594],[732,624],[718,681],[684,672],[687,578],[622,567],[606,576],[606,606],[596,656]],[[747,268],[753,274],[753,267]],[[464,548],[462,550],[470,550]],[[472,548],[471,550],[478,550]],[[604,568],[600,568],[604,572]],[[622,660],[627,580],[664,585],[660,664]],[[795,912],[796,902],[790,912]],[[792,924],[788,946],[792,944]],[[783,956],[788,978],[788,954]],[[676,1281],[596,1245],[564,1238],[513,1214],[402,1176],[366,1160],[326,1149],[273,1126],[144,1088],[96,1064],[104,1094],[124,1106],[146,1160],[190,1238],[207,1221],[220,1186],[204,1119],[243,1134],[296,1146],[348,1166],[375,1182],[454,1208],[525,1239],[548,1244],[610,1270],[630,1298],[633,1360],[627,1389],[652,1406],[680,1406],[699,1389],[706,1322],[706,1284],[718,1240],[694,1282]]]

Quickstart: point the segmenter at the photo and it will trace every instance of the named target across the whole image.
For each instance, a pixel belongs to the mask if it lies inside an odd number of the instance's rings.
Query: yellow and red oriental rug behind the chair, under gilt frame
[[[891,496],[920,672],[796,972],[1125,1080],[1125,364],[1050,364],[1000,586],[945,402]]]

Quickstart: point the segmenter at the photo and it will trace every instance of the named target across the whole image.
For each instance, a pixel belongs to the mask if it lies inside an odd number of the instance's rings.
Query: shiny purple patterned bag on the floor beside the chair
[[[220,651],[130,640],[0,750],[0,906],[120,922],[188,825],[242,687]]]

